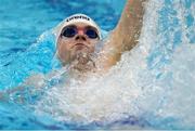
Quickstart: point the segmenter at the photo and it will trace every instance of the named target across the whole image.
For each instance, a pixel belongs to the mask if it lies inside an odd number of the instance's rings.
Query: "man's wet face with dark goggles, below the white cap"
[[[83,63],[94,53],[100,36],[98,29],[84,23],[76,23],[64,27],[57,39],[57,54],[63,64],[82,57]],[[86,61],[86,62],[84,62]]]

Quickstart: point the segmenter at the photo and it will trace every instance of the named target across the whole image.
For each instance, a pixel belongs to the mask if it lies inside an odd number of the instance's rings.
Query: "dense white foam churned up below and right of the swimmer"
[[[174,8],[178,4],[174,3]],[[182,119],[183,125],[195,123],[195,47],[182,37],[183,45],[172,54],[171,64],[160,70],[160,79],[154,75],[156,70],[147,68],[146,57],[151,49],[165,39],[156,30],[158,11],[162,5],[158,0],[147,3],[139,45],[123,53],[108,74],[91,76],[84,83],[72,79],[69,86],[52,88],[38,103],[37,113],[52,114],[58,120],[89,123],[152,112],[161,118]]]

